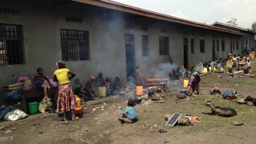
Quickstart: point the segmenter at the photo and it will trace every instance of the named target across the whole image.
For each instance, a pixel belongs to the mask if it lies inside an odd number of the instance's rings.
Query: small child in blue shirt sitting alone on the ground
[[[122,123],[135,123],[137,121],[137,112],[136,109],[134,109],[133,107],[134,100],[129,99],[127,105],[128,107],[125,109],[125,112],[123,113],[122,117],[118,119],[118,121]]]

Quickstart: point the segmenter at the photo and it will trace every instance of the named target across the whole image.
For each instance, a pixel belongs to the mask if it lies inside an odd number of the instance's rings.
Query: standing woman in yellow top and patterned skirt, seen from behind
[[[79,117],[75,116],[77,102],[72,91],[71,82],[69,81],[75,77],[75,73],[66,68],[66,63],[64,61],[59,61],[56,65],[59,68],[54,72],[53,78],[55,82],[59,82],[59,96],[57,99],[56,111],[64,113],[64,120],[67,120],[66,112],[71,111],[72,120],[77,120],[79,119]],[[71,77],[68,77],[68,74],[71,74]]]

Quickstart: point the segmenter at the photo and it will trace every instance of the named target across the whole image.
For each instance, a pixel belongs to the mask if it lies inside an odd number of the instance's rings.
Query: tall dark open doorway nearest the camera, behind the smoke
[[[134,35],[125,34],[125,54],[126,54],[126,73],[127,81],[134,80],[136,77]]]

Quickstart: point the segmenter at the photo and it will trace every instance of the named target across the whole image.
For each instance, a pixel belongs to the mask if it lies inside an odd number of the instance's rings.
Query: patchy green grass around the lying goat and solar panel
[[[154,103],[153,105],[141,106],[137,108],[137,113],[139,114],[139,121],[133,124],[133,130],[138,131],[139,135],[148,131],[148,128],[144,127],[145,123],[148,123],[153,128],[153,131],[157,132],[159,128],[165,127],[169,131],[178,130],[180,133],[193,133],[200,131],[209,131],[212,129],[232,129],[232,123],[236,120],[242,120],[245,123],[250,123],[252,126],[256,126],[255,116],[256,108],[250,105],[238,105],[233,101],[223,99],[222,97],[213,97],[211,100],[216,106],[230,107],[237,111],[238,115],[234,117],[220,117],[204,115],[201,112],[210,112],[210,107],[205,105],[205,102],[210,97],[200,95],[196,97],[193,101],[185,102],[187,100],[174,100],[175,95],[169,96],[169,101],[166,103]],[[177,103],[176,103],[177,102]],[[146,112],[144,113],[144,111]],[[166,114],[173,113],[183,113],[191,114],[193,116],[201,117],[200,123],[194,126],[167,126],[167,122],[164,119]],[[157,125],[157,126],[155,126]],[[129,125],[127,125],[128,127]],[[134,135],[135,133],[122,133],[122,136]],[[138,134],[138,133],[137,133]]]

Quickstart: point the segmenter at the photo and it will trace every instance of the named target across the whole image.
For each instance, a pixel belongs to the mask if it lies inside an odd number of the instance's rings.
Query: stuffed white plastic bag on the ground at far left
[[[17,109],[17,110],[15,110],[15,111],[12,111],[12,112],[7,113],[7,114],[4,116],[3,119],[4,119],[4,120],[12,120],[12,121],[14,121],[14,120],[23,119],[23,118],[25,118],[25,117],[27,117],[27,116],[28,116],[28,115],[27,115],[25,112],[23,112],[23,111]]]

